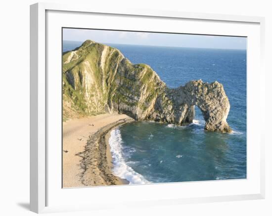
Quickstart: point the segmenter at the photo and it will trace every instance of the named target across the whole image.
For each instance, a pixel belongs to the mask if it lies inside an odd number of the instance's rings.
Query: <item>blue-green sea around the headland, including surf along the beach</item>
[[[80,46],[63,41],[63,52]],[[111,131],[113,172],[130,184],[247,178],[246,50],[107,44],[132,63],[144,63],[168,87],[190,80],[218,81],[230,102],[227,122],[233,132],[204,130],[195,106],[193,123],[182,127],[149,121],[127,123]]]

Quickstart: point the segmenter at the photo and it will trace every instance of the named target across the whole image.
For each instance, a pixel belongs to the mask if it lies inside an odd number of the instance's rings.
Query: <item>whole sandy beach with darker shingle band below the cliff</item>
[[[100,114],[63,122],[63,187],[127,184],[113,175],[109,133],[133,121],[125,114]]]

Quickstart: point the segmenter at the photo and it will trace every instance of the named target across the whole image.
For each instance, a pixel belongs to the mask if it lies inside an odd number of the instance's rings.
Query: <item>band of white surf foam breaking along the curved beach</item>
[[[150,183],[126,164],[122,152],[122,142],[120,130],[118,128],[112,130],[109,145],[113,159],[113,173],[121,179],[128,180],[130,184]]]

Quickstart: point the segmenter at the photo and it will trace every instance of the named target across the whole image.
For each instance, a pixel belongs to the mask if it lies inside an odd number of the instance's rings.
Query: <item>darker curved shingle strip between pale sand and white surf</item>
[[[85,150],[77,154],[82,158],[80,180],[84,186],[129,184],[129,181],[120,179],[112,172],[113,163],[109,137],[113,129],[132,121],[134,119],[131,117],[119,119],[89,136]]]

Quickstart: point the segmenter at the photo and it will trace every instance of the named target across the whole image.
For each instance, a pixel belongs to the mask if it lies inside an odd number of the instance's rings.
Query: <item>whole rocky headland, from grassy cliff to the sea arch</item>
[[[190,81],[170,89],[148,65],[132,64],[110,46],[85,41],[63,55],[63,117],[102,112],[177,125],[192,122],[198,106],[208,131],[230,132],[229,101],[218,82]]]

